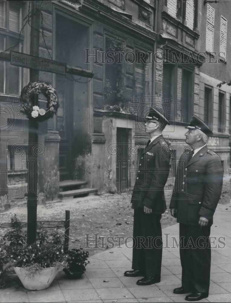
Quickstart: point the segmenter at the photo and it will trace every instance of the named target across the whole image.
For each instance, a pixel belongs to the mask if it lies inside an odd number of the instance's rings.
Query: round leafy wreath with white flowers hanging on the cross
[[[39,108],[37,105],[32,105],[31,96],[33,94],[42,93],[47,99],[47,108]],[[29,82],[21,91],[21,101],[23,102],[23,110],[28,119],[43,122],[52,118],[59,107],[58,96],[56,89],[45,82]]]

